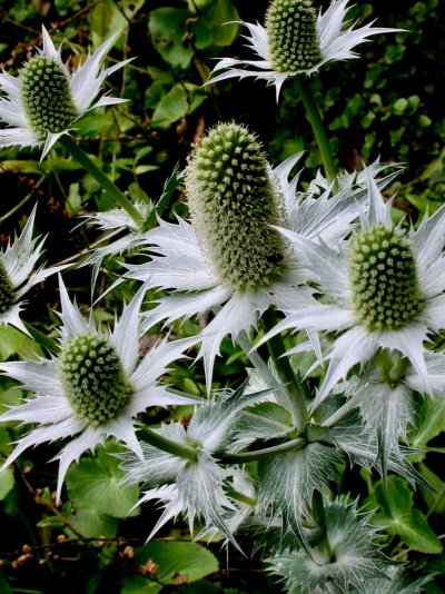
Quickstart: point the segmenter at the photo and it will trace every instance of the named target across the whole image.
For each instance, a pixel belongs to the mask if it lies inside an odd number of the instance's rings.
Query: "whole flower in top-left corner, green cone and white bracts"
[[[0,99],[0,120],[8,126],[0,130],[0,148],[44,143],[43,159],[86,111],[126,101],[105,95],[91,105],[105,79],[130,60],[100,70],[103,57],[117,39],[115,34],[92,56],[88,53],[85,62],[70,73],[61,60],[60,48],[56,49],[43,26],[42,37],[43,49],[38,49],[17,78],[0,73],[0,89],[4,92]]]

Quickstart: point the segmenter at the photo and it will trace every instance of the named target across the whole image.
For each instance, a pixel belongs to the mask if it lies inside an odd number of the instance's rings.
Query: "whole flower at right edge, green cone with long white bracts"
[[[418,389],[433,390],[425,341],[445,327],[445,208],[405,231],[393,225],[392,202],[384,201],[370,177],[368,191],[362,228],[338,249],[281,229],[310,260],[325,298],[306,310],[287,311],[264,340],[285,328],[342,333],[327,355],[329,367],[315,404],[352,367],[382,349],[402,354],[417,374]]]

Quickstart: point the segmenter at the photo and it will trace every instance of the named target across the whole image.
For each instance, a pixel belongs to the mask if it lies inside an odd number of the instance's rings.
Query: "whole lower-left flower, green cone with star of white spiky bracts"
[[[68,467],[80,455],[109,436],[123,442],[142,457],[136,438],[136,415],[149,406],[196,404],[191,397],[169,392],[158,383],[168,366],[184,357],[190,339],[161,343],[141,360],[138,356],[140,306],[145,287],[126,305],[110,333],[86,320],[71,304],[60,279],[60,354],[51,359],[2,363],[0,370],[33,393],[0,420],[37,424],[20,438],[4,466],[28,447],[77,435],[55,459],[59,459],[57,497]]]

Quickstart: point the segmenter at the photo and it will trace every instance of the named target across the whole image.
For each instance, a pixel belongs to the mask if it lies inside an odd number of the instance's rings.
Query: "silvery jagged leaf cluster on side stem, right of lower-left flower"
[[[139,503],[159,499],[165,505],[161,517],[152,528],[150,539],[169,519],[179,515],[187,517],[194,533],[195,519],[204,521],[204,534],[222,534],[236,547],[233,531],[246,513],[237,499],[230,497],[230,484],[243,482],[239,468],[222,467],[218,457],[230,448],[230,433],[237,416],[246,406],[263,400],[269,390],[246,395],[243,389],[227,392],[198,407],[187,429],[172,423],[156,429],[176,445],[195,453],[179,457],[142,443],[144,459],[131,453],[120,454],[128,484],[142,483],[145,491]],[[246,477],[248,478],[248,477]]]

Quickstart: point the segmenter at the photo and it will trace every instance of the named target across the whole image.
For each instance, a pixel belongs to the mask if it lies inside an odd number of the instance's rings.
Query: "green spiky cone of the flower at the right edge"
[[[397,330],[423,309],[416,264],[402,229],[374,225],[350,240],[354,309],[369,330]]]

